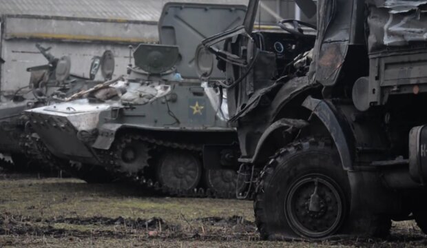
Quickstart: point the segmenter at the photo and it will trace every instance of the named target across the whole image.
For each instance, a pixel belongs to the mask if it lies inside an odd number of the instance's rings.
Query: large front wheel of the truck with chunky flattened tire
[[[350,206],[340,158],[324,142],[282,149],[262,172],[254,210],[262,238],[324,238],[340,231]]]

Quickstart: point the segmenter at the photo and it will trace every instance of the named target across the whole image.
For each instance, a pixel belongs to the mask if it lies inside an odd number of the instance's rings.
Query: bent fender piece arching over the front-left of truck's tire
[[[269,144],[271,144],[272,139],[277,136],[283,136],[286,142],[288,138],[291,138],[293,133],[301,130],[307,125],[309,125],[309,123],[304,120],[291,118],[282,118],[276,121],[275,123],[271,124],[262,134],[260,140],[258,141],[258,145],[256,146],[253,157],[249,159],[239,159],[239,161],[244,163],[260,163],[267,160],[269,157]]]

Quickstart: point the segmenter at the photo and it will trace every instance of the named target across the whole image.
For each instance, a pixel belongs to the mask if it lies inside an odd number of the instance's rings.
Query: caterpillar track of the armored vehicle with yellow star
[[[163,149],[173,150],[174,152],[185,151],[194,152],[196,154],[200,154],[200,152],[202,152],[202,147],[200,145],[160,141],[155,138],[143,137],[138,135],[126,135],[124,138],[120,139],[120,143],[116,143],[114,144],[114,146],[121,147],[125,143],[129,143],[129,141],[135,140],[149,144],[150,149],[147,152],[150,154],[152,154],[154,150],[158,150],[160,147]],[[39,161],[39,163],[43,163],[44,168],[50,168],[59,172],[65,171],[71,174],[72,176],[86,180],[87,183],[130,182],[138,185],[139,187],[142,187],[144,190],[149,191],[150,194],[191,198],[236,198],[236,192],[234,190],[229,192],[218,190],[213,191],[208,187],[176,189],[173,187],[168,187],[167,185],[163,185],[162,183],[160,183],[159,180],[156,179],[156,176],[153,175],[153,169],[156,165],[150,164],[150,162],[155,161],[152,156],[147,156],[145,164],[141,165],[139,170],[134,171],[133,173],[129,173],[123,172],[121,165],[118,163],[118,158],[121,157],[120,154],[117,154],[111,149],[109,151],[97,151],[98,158],[101,161],[104,161],[107,171],[110,172],[110,175],[114,176],[114,178],[111,178],[110,180],[106,181],[92,180],[95,177],[90,178],[90,176],[94,175],[89,175],[88,177],[87,174],[90,174],[90,169],[89,171],[88,169],[85,169],[88,165],[70,163],[60,158],[56,158],[48,150],[48,148],[45,147],[40,138],[37,138],[37,136],[26,135],[25,147],[27,147],[28,153],[37,154],[37,160]],[[198,185],[201,185],[201,183]]]

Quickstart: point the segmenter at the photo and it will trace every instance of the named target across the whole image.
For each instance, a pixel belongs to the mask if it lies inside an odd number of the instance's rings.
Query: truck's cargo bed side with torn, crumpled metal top
[[[366,0],[368,6],[368,87],[358,80],[361,111],[384,105],[393,94],[426,92],[427,1]]]

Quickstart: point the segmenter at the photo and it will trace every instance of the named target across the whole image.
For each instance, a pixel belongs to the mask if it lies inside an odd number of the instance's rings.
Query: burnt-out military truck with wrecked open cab
[[[427,233],[427,1],[317,1],[316,37],[298,20],[253,31],[257,7],[202,43],[227,72],[262,238],[385,236],[409,219]]]

